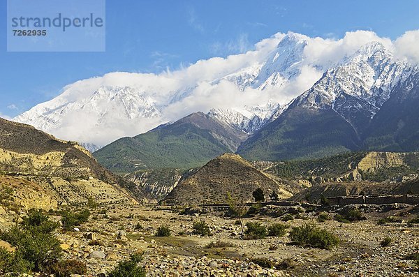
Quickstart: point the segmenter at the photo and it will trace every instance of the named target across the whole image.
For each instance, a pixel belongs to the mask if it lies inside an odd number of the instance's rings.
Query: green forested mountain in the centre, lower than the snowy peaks
[[[112,142],[94,156],[113,172],[186,170],[205,165],[225,152],[234,152],[245,138],[244,133],[197,112],[136,137]]]

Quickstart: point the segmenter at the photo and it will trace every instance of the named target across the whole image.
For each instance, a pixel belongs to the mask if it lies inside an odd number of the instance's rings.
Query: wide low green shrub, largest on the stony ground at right
[[[311,248],[330,249],[339,244],[339,238],[335,234],[309,224],[293,227],[290,237],[293,243]]]

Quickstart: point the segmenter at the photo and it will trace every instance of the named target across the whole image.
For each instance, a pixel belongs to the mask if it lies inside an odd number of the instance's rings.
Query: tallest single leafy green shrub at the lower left
[[[42,210],[31,209],[20,225],[1,233],[0,239],[17,248],[16,255],[30,264],[29,269],[39,271],[59,260],[60,243],[52,234],[57,226]]]

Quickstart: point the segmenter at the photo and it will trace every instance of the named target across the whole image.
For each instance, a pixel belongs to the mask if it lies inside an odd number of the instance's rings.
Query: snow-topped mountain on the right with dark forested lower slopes
[[[319,158],[346,151],[418,151],[419,69],[367,43],[237,150],[251,160]]]

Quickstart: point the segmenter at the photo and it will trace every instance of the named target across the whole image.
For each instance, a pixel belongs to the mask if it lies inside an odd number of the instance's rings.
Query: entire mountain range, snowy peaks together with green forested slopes
[[[245,62],[235,66],[224,64],[238,59],[233,56],[200,61],[181,73],[140,79],[114,73],[117,81],[114,75],[79,81],[15,120],[71,133],[92,150],[103,133],[110,134],[107,139],[123,137],[94,154],[115,172],[199,167],[224,152],[247,160],[291,160],[360,150],[418,151],[419,67],[395,57],[378,39],[328,59],[319,58],[328,47],[313,51],[317,41],[288,33],[243,54]],[[215,62],[215,73],[198,71]],[[306,77],[304,89],[297,84]],[[216,101],[206,93],[216,98],[220,89],[226,97],[222,107],[209,108]],[[234,96],[240,91],[242,105],[228,98],[229,89]],[[247,105],[255,96],[261,102]],[[190,107],[204,110],[176,118]],[[75,114],[83,122],[71,122]],[[149,124],[158,127],[138,131]]]

